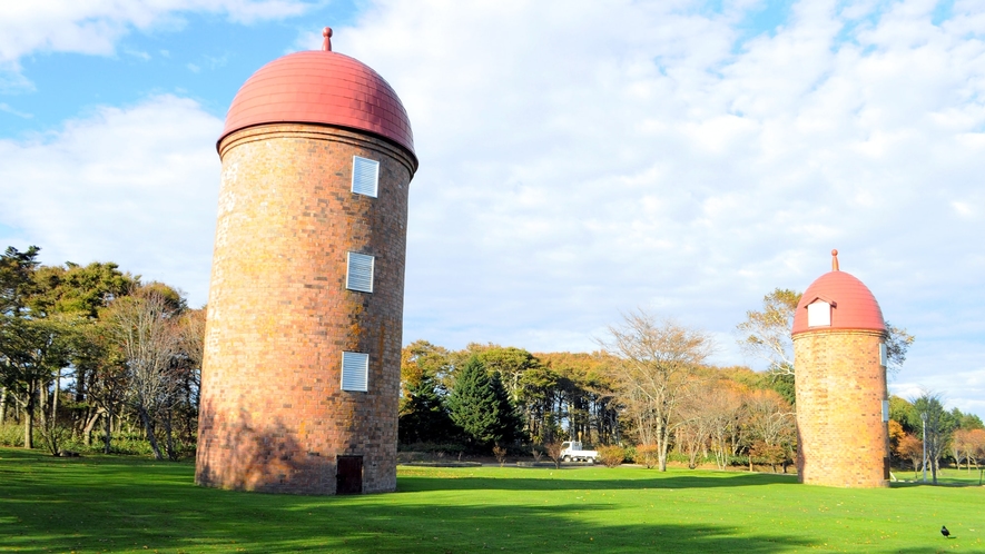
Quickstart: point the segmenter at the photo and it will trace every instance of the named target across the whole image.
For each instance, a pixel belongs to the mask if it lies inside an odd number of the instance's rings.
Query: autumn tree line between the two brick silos
[[[792,459],[790,376],[708,365],[708,334],[642,311],[610,334],[592,354],[412,343],[401,367],[401,442],[489,452],[581,439],[632,446],[660,469],[671,455],[691,467]]]

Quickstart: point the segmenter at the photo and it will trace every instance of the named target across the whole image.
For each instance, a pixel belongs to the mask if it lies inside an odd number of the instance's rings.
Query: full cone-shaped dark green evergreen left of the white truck
[[[475,356],[465,363],[455,378],[449,412],[452,421],[476,446],[511,442],[520,428],[520,418],[510,404],[503,383],[498,375],[490,376]]]

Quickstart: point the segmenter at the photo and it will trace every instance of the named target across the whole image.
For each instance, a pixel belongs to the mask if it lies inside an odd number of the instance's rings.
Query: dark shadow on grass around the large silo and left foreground
[[[188,464],[32,456],[10,461],[8,451],[0,457],[0,544],[14,552],[130,552],[146,547],[196,553],[462,553],[490,548],[755,554],[811,544],[768,532],[750,534],[735,527],[648,521],[644,512],[627,516],[605,504],[532,506],[531,496],[525,496],[528,504],[514,505],[504,503],[502,495],[483,495],[477,488],[698,486],[697,477],[588,482],[402,478],[401,488],[473,491],[454,501],[423,502],[420,495],[401,493],[312,497],[201,488],[191,484]],[[750,477],[756,476],[708,481],[737,486]]]

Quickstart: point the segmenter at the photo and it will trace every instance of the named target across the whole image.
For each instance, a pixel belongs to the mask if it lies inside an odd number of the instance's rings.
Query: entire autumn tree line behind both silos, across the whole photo
[[[0,443],[112,453],[139,433],[156,458],[194,453],[205,309],[116,264],[45,266],[39,251],[0,255]],[[739,343],[769,360],[767,372],[711,366],[709,334],[644,311],[627,314],[590,354],[414,342],[401,359],[400,442],[487,453],[580,439],[628,446],[629,457],[660,469],[671,457],[786,469],[797,448],[797,301],[776,289],[737,326]],[[914,337],[889,328],[898,368]],[[946,410],[939,396],[894,397],[890,416],[893,452],[915,468],[913,445],[925,436],[935,477],[942,459],[968,468],[985,459],[981,419]]]

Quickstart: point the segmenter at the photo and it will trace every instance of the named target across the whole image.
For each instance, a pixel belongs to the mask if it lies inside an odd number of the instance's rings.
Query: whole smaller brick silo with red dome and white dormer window
[[[798,478],[839,487],[889,479],[886,323],[869,289],[838,270],[815,280],[794,315]]]

